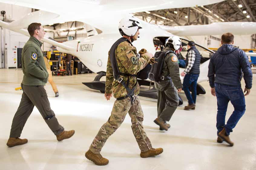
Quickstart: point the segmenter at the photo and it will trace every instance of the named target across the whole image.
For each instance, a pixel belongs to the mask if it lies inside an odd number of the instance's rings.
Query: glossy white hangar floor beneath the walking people
[[[247,110],[230,135],[233,147],[216,142],[216,98],[210,95],[208,82],[201,83],[206,95],[197,97],[195,111],[179,107],[174,113],[169,131],[159,131],[153,123],[156,101],[140,97],[144,112],[144,128],[153,147],[164,152],[156,157],[140,158],[139,147],[131,130],[129,115],[122,126],[107,140],[101,154],[109,164],[94,165],[84,156],[99,128],[110,116],[115,99],[107,101],[102,93],[90,90],[81,82],[92,81],[96,74],[57,76],[60,96],[55,98],[49,83],[46,85],[51,108],[66,130],[76,133],[58,142],[38,110],[29,117],[21,138],[28,143],[8,148],[12,118],[18,108],[22,91],[15,91],[22,80],[22,71],[0,69],[0,169],[158,169],[158,170],[255,170],[256,169],[256,91],[253,77],[251,94],[246,97]],[[244,87],[244,82],[242,83]],[[185,105],[185,94],[181,93]],[[228,107],[229,116],[232,106]]]

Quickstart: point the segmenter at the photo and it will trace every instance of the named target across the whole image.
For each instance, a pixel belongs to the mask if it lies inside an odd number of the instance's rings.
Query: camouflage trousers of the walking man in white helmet
[[[102,125],[90,146],[90,151],[92,153],[100,153],[110,135],[112,135],[123,123],[127,112],[132,120],[132,130],[139,145],[139,149],[142,152],[145,152],[152,148],[151,142],[143,129],[143,112],[140,106],[139,97],[136,96],[133,104],[131,104],[130,97],[115,101],[108,121]]]

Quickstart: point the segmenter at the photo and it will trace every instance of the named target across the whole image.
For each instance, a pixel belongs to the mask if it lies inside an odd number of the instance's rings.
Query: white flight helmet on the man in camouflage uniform
[[[134,36],[142,27],[137,18],[129,16],[120,20],[118,28],[122,36]]]

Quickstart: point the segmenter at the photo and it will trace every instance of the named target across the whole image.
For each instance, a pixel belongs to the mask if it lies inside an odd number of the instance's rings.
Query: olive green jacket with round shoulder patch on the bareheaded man
[[[26,86],[45,86],[48,81],[49,74],[44,64],[41,46],[42,43],[31,36],[22,49],[22,84]]]

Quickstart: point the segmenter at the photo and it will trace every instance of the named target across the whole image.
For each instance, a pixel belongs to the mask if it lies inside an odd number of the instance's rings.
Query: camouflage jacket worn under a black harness
[[[127,41],[120,43],[115,50],[115,57],[117,59],[117,66],[120,73],[137,74],[148,64],[150,56],[141,55],[137,59],[137,50]],[[125,82],[128,76],[121,76]],[[136,84],[136,77],[129,76],[128,87],[132,89]],[[139,94],[139,84],[135,88],[135,94]],[[113,93],[115,98],[124,97],[127,94],[126,89],[117,80],[114,80],[113,69],[110,62],[110,51],[108,52],[107,73],[106,73],[106,87],[105,93]]]

